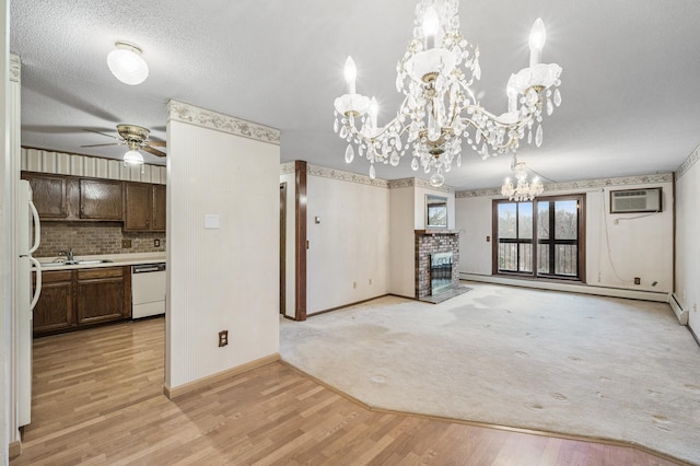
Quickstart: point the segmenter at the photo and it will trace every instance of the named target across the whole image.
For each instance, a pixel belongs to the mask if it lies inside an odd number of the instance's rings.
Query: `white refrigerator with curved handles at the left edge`
[[[39,214],[32,202],[30,182],[20,180],[18,206],[18,243],[20,260],[18,266],[18,416],[19,426],[32,420],[32,324],[33,310],[42,292],[42,265],[32,257],[39,247]],[[36,273],[36,287],[32,287],[32,275]]]

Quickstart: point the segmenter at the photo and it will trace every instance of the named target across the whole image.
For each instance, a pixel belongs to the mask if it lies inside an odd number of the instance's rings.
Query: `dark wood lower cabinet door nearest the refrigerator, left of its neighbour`
[[[57,333],[75,326],[73,314],[72,272],[42,273],[42,295],[34,307],[34,334]]]

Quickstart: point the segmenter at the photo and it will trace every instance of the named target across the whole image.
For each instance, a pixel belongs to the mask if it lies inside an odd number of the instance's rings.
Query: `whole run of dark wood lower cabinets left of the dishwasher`
[[[34,336],[131,317],[131,268],[104,267],[42,273]]]

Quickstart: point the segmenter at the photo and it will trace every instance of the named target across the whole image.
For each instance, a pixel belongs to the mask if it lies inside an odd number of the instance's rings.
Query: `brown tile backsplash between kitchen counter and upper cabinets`
[[[121,222],[42,222],[42,243],[34,257],[57,257],[73,248],[75,256],[165,252],[165,233],[125,232]],[[121,240],[131,240],[122,248]],[[161,241],[155,247],[154,240]]]

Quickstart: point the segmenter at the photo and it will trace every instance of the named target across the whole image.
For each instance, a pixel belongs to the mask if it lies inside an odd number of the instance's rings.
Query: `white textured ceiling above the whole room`
[[[563,68],[563,103],[544,121],[542,147],[525,145],[518,158],[546,179],[669,172],[700,142],[699,1],[463,0],[460,15],[463,35],[481,51],[475,91],[497,114],[510,73],[527,66],[533,22],[545,21],[544,61]],[[127,123],[165,140],[166,102],[176,98],[279,128],[282,161],[366,174],[366,160],[345,163],[332,132],[342,66],[352,55],[358,92],[376,95],[380,124],[388,120],[412,21],[406,0],[12,0],[22,143],[120,158],[122,148],[81,148],[109,142],[83,129],[116,133]],[[110,74],[116,40],[144,50],[143,84]],[[509,158],[465,155],[446,176],[457,189],[495,187],[510,174]],[[378,166],[377,176],[416,176],[407,159]]]

